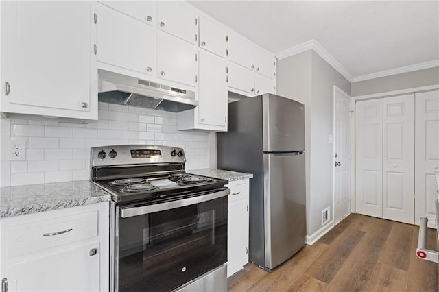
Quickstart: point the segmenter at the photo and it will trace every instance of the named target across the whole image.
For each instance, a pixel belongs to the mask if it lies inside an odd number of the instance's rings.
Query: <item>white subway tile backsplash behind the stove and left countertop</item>
[[[182,147],[186,169],[209,167],[209,132],[176,129],[176,113],[99,103],[99,120],[0,119],[0,186],[88,180],[90,147],[156,144]],[[10,141],[25,139],[25,160],[10,160]],[[212,154],[216,156],[215,154]]]

